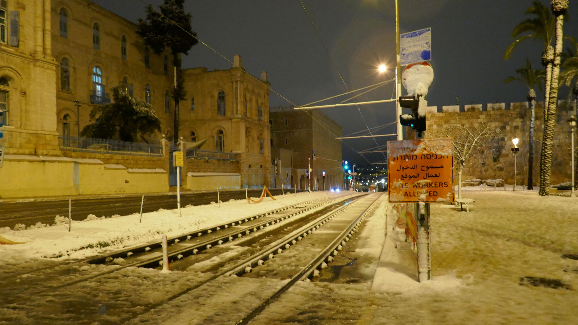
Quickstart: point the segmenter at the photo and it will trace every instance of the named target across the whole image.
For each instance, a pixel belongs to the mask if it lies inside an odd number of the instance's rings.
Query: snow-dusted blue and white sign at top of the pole
[[[432,59],[432,29],[425,28],[399,35],[401,65]]]

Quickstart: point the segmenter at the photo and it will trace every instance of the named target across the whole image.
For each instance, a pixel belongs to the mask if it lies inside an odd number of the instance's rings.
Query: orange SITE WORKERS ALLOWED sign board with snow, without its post
[[[387,142],[389,200],[453,202],[453,139]]]

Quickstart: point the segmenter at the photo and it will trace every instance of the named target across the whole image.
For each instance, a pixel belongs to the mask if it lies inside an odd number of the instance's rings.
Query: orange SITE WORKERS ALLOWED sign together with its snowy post
[[[407,224],[416,234],[412,241],[417,243],[418,278],[423,282],[431,275],[429,203],[454,201],[453,139],[388,141],[387,153],[390,202],[417,203],[419,219]]]

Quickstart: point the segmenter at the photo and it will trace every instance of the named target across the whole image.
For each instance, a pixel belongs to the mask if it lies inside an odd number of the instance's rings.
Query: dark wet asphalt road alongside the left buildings
[[[281,194],[281,190],[269,190],[271,194]],[[301,190],[298,190],[300,192]],[[249,190],[250,197],[259,197],[261,189]],[[245,198],[245,191],[223,191],[220,193],[222,202],[231,199],[240,200]],[[72,200],[72,220],[84,220],[90,214],[97,217],[112,215],[130,215],[140,212],[141,196],[117,197],[117,198],[91,198]],[[217,202],[217,192],[181,194],[181,206],[188,204],[203,205]],[[176,209],[177,197],[170,195],[144,196],[143,213],[163,209]],[[40,202],[16,202],[0,204],[0,227],[13,228],[16,224],[31,226],[38,221],[45,224],[53,224],[54,217],[68,217],[68,200],[40,201]]]

